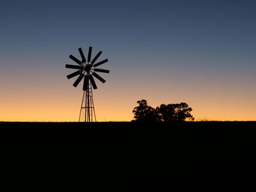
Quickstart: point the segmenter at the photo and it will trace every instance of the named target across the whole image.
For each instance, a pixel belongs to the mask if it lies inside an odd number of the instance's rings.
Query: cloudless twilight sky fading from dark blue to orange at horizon
[[[1,1],[0,121],[78,121],[69,54],[102,50],[98,121],[136,101],[186,102],[195,120],[256,120],[256,1]]]

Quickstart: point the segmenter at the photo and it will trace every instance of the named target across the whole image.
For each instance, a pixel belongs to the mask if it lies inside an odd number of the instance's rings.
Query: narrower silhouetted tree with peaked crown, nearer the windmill
[[[137,101],[138,107],[135,107],[132,112],[136,122],[157,122],[160,121],[161,117],[158,115],[157,110],[153,107],[148,106],[145,99]]]

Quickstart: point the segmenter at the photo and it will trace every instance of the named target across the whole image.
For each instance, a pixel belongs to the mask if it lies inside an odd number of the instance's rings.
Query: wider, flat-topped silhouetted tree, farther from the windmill
[[[192,108],[187,103],[180,104],[161,104],[157,107],[157,113],[161,116],[162,121],[193,121],[195,118],[190,114]]]

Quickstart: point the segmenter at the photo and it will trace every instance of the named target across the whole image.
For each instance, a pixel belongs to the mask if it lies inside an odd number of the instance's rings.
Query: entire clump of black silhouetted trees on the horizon
[[[135,107],[132,112],[136,122],[181,122],[193,121],[195,118],[190,114],[192,108],[187,103],[180,104],[161,104],[154,109],[148,106],[145,99],[137,101],[138,107]]]

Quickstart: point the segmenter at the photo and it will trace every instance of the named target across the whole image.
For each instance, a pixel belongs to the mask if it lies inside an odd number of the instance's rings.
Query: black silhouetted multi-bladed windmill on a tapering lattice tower
[[[97,68],[97,66],[107,63],[108,58],[106,58],[105,60],[99,61],[95,64],[95,62],[99,58],[99,55],[102,54],[102,51],[99,51],[99,53],[95,55],[94,59],[91,61],[91,50],[92,50],[92,47],[89,47],[88,57],[86,60],[85,56],[83,55],[83,50],[80,47],[78,51],[81,55],[82,60],[80,61],[78,60],[78,58],[75,58],[75,56],[69,55],[69,58],[75,61],[75,63],[78,65],[66,65],[66,68],[78,69],[72,74],[67,75],[68,79],[71,79],[72,77],[76,77],[79,75],[77,80],[75,80],[73,84],[75,88],[83,80],[83,99],[80,107],[79,122],[80,121],[85,121],[85,122],[97,121],[95,110],[94,110],[94,99],[92,95],[92,88],[97,89],[97,85],[94,81],[94,77],[96,77],[97,80],[104,83],[105,80],[102,77],[100,77],[99,74],[97,74],[96,72],[109,73],[109,70]]]

